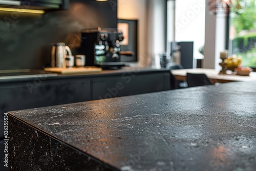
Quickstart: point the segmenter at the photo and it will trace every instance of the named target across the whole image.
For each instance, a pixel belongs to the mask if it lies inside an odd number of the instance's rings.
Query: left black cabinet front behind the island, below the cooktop
[[[0,86],[1,112],[90,100],[90,80],[45,80]],[[2,112],[3,113],[3,112]]]

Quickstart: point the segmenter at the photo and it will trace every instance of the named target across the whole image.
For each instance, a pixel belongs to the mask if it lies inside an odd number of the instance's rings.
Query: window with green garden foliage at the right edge
[[[256,68],[256,0],[230,12],[229,54],[242,56],[242,65]]]

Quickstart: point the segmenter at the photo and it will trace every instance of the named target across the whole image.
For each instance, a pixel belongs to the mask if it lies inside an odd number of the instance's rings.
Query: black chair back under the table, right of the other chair
[[[210,85],[209,78],[203,73],[187,73],[187,86],[197,87]]]

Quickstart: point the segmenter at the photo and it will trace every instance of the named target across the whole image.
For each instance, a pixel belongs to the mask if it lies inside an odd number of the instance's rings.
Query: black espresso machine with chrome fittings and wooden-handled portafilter
[[[134,55],[122,52],[123,34],[117,29],[84,29],[81,32],[81,51],[86,55],[86,66],[101,68],[120,68],[125,66],[120,61],[121,55]]]

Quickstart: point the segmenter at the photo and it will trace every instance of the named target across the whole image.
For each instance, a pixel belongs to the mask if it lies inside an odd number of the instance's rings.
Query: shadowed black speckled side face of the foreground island
[[[9,127],[13,136],[8,143],[8,148],[12,149],[9,150],[8,156],[9,170],[114,169],[23,122],[10,118]],[[13,141],[18,142],[18,144],[13,143]]]

